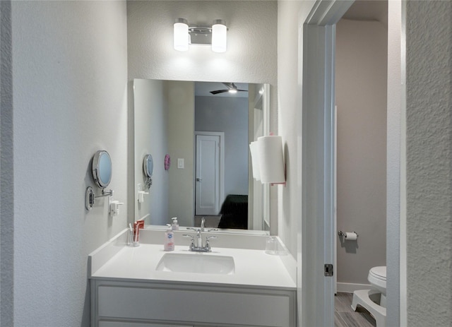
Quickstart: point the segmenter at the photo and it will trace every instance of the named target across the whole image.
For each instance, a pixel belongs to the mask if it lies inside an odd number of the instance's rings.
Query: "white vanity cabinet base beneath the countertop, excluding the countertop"
[[[92,327],[296,324],[295,290],[159,280],[91,279]]]

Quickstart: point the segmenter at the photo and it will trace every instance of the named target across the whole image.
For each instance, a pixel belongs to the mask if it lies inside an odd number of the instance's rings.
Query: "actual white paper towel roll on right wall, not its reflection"
[[[261,136],[257,139],[262,183],[284,183],[283,138]]]

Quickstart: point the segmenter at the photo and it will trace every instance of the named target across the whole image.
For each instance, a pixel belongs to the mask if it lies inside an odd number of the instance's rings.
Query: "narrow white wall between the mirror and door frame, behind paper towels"
[[[278,134],[283,137],[287,184],[272,187],[278,187],[278,235],[294,257],[297,257],[297,226],[302,213],[299,26],[304,19],[299,15],[307,15],[313,4],[313,1],[278,1]]]

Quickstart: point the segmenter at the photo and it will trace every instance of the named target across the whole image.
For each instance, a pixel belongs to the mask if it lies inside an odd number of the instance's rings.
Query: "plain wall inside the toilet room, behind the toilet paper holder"
[[[338,283],[369,284],[386,266],[386,25],[340,20],[336,25]],[[343,287],[338,285],[338,290]]]

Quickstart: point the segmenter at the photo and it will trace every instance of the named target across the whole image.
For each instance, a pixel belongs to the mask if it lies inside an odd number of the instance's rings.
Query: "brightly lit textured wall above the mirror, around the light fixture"
[[[128,1],[129,78],[276,85],[276,1]],[[175,18],[226,20],[227,52],[173,48]]]

